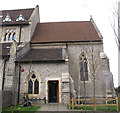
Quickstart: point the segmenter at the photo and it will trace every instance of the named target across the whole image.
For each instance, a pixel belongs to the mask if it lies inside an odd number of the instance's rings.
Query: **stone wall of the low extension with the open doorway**
[[[49,80],[58,80],[59,81],[59,103],[62,102],[62,88],[64,84],[62,84],[62,75],[64,73],[68,73],[68,65],[64,62],[53,62],[53,63],[27,63],[27,64],[21,64],[21,67],[25,70],[21,73],[21,85],[20,85],[20,94],[21,94],[21,100],[23,98],[23,93],[27,91],[27,78],[30,75],[31,72],[35,72],[37,76],[39,76],[40,79],[40,95],[39,98],[46,97],[46,100],[48,99],[48,81]],[[69,76],[69,74],[68,74]],[[69,82],[67,83],[69,84]],[[65,86],[65,85],[64,85]],[[68,91],[66,93],[69,93],[69,86]],[[47,100],[48,102],[48,100]]]

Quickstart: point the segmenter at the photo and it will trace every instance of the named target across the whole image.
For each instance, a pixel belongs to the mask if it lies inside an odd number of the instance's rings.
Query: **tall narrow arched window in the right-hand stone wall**
[[[88,62],[84,53],[80,55],[80,79],[88,81]]]

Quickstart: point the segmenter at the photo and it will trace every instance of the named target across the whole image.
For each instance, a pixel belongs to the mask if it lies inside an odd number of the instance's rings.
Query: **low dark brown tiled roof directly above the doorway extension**
[[[19,62],[63,61],[62,48],[30,49],[17,58]]]

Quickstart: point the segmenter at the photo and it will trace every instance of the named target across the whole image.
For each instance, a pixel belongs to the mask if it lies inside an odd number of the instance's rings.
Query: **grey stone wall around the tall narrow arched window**
[[[92,53],[93,48],[93,53]],[[93,76],[92,76],[92,54],[94,56],[94,62],[96,68],[96,96],[104,97],[105,88],[104,88],[104,76],[102,75],[102,64],[100,58],[100,52],[103,52],[102,43],[79,43],[79,44],[68,44],[68,56],[69,56],[69,73],[74,80],[75,90],[77,96],[84,96],[84,82],[80,81],[80,64],[79,56],[80,53],[84,52],[88,59],[88,75],[89,80],[85,82],[86,87],[86,96],[93,96]]]

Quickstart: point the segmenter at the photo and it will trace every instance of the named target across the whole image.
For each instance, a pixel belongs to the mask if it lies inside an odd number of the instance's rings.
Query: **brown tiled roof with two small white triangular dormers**
[[[2,11],[2,20],[5,19],[6,15],[8,14],[10,18],[12,19],[11,22],[3,22],[3,25],[7,24],[19,24],[19,23],[27,23],[34,8],[30,9],[17,9],[17,10],[3,10]],[[22,14],[22,16],[25,18],[26,21],[16,21],[16,19],[19,17],[19,15]]]

